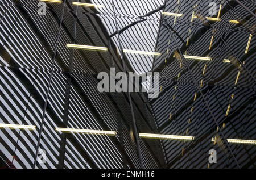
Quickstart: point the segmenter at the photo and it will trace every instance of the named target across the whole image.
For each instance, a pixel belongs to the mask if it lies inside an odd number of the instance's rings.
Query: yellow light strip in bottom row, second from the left
[[[108,136],[117,135],[117,132],[115,131],[100,131],[100,130],[91,130],[91,129],[55,128],[55,131],[77,132],[77,133],[85,133],[85,134],[92,134],[92,135],[108,135]]]

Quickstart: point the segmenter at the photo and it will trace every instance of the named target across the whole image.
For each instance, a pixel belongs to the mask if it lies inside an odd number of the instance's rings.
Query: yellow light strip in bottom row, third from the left
[[[175,136],[175,135],[158,135],[158,134],[148,134],[148,133],[139,133],[141,138],[149,139],[169,139],[169,140],[194,140],[193,136]]]

